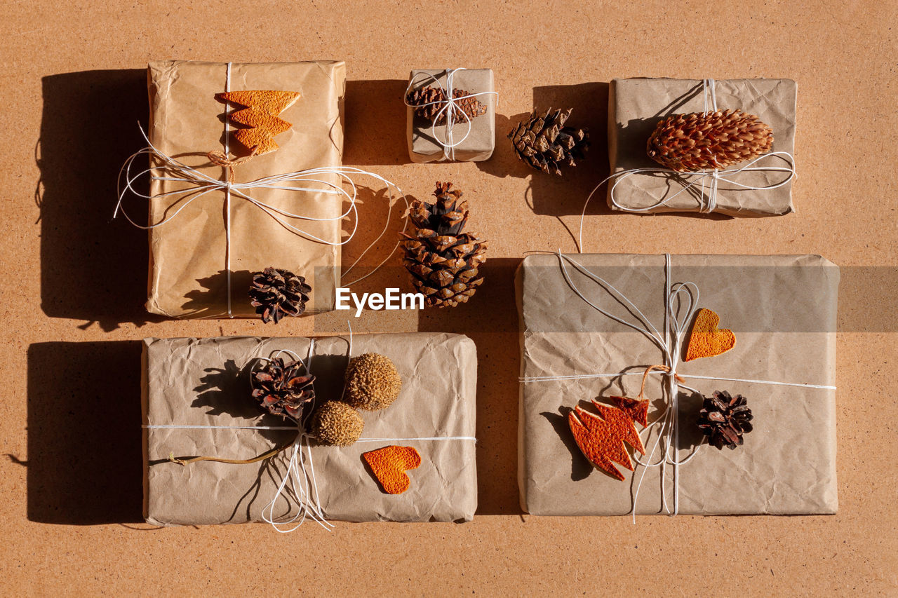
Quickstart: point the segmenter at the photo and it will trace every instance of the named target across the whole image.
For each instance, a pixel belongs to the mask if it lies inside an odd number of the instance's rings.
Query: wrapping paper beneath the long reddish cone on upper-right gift
[[[754,114],[773,129],[774,152],[793,154],[797,85],[790,79],[721,79],[715,83],[718,109],[738,108]],[[646,154],[648,136],[659,120],[671,114],[705,110],[705,95],[700,79],[614,79],[608,94],[608,157],[612,174],[634,168],[662,168]],[[744,165],[735,165],[739,168]],[[778,157],[764,158],[754,166],[786,167]],[[783,172],[742,172],[735,180],[744,185],[762,187],[784,180]],[[612,209],[611,189],[608,204]],[[621,178],[614,188],[618,204],[642,208],[661,198],[670,198],[683,188],[682,179],[671,175],[638,173]],[[653,212],[698,212],[700,193],[708,185],[693,186]],[[694,189],[694,192],[693,192]],[[792,183],[777,189],[739,189],[721,181],[716,211],[733,216],[784,215],[795,211]]]

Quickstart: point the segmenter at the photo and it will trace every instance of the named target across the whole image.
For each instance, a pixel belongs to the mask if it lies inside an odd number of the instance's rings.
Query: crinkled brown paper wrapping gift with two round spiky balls
[[[285,420],[263,415],[251,399],[247,365],[279,349],[304,358],[310,341],[232,337],[144,342],[145,425],[284,426]],[[315,340],[311,368],[319,401],[339,399],[347,350],[342,337]],[[367,352],[392,359],[402,391],[389,408],[362,412],[363,437],[475,435],[477,351],[471,339],[443,333],[356,335],[353,355]],[[262,507],[277,489],[270,466],[196,462],[182,467],[164,460],[170,453],[245,459],[294,435],[288,430],[145,428],[146,520],[162,525],[260,521]],[[384,494],[361,457],[389,444],[414,446],[421,454],[420,467],[408,472],[411,486],[401,495]],[[358,442],[342,448],[313,443],[312,453],[328,519],[468,521],[477,508],[471,440]],[[280,472],[286,470],[285,455],[274,460]],[[291,507],[295,513],[293,502]],[[276,514],[286,508],[281,499]]]

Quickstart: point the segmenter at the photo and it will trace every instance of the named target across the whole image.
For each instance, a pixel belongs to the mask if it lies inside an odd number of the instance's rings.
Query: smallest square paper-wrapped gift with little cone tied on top
[[[489,68],[411,71],[405,95],[411,161],[489,159],[496,145],[496,98]]]

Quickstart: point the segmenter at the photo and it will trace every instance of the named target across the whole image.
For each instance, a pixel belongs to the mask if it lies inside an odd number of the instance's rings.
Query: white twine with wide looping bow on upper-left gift
[[[227,82],[225,84],[225,91],[231,91],[231,63],[227,65]],[[368,251],[371,251],[374,248],[374,245],[377,244],[382,238],[383,235],[387,232],[387,229],[390,225],[390,218],[392,216],[392,209],[394,203],[394,195],[395,191],[398,194],[398,197],[401,198],[406,205],[406,208],[409,207],[409,201],[405,196],[402,195],[402,191],[399,187],[397,187],[394,183],[389,180],[384,179],[379,174],[374,172],[364,171],[359,168],[355,168],[352,166],[330,166],[330,167],[321,167],[321,168],[310,168],[304,171],[292,171],[285,172],[282,174],[274,174],[266,177],[262,177],[260,179],[251,180],[248,182],[234,182],[232,180],[219,180],[214,177],[207,175],[202,171],[198,171],[196,168],[188,166],[185,163],[181,163],[179,160],[172,158],[172,156],[165,154],[155,145],[153,145],[149,137],[146,136],[146,133],[140,124],[138,123],[137,127],[140,129],[141,136],[144,137],[146,142],[146,147],[137,151],[134,154],[128,156],[128,159],[122,165],[121,170],[119,171],[119,181],[118,181],[118,194],[119,200],[116,203],[115,212],[112,217],[116,217],[121,212],[122,215],[128,220],[129,223],[135,225],[137,228],[141,228],[144,230],[153,229],[157,226],[162,226],[170,222],[173,218],[180,214],[180,212],[188,207],[191,203],[196,201],[198,198],[202,198],[208,193],[212,193],[215,191],[222,191],[225,194],[225,273],[227,279],[227,315],[229,318],[233,318],[232,312],[232,304],[231,304],[231,230],[232,230],[232,217],[231,217],[231,204],[232,197],[242,199],[250,203],[251,205],[258,207],[260,210],[269,215],[272,219],[274,219],[278,224],[284,226],[291,233],[295,233],[298,236],[304,237],[313,242],[319,242],[324,245],[331,246],[342,246],[352,241],[353,237],[356,235],[356,231],[358,229],[358,210],[356,207],[357,204],[357,184],[355,180],[352,179],[352,175],[365,175],[374,178],[374,180],[381,181],[384,185],[386,185],[387,193],[389,195],[389,203],[387,207],[387,216],[386,220],[383,224],[383,229],[381,233],[377,235],[377,237],[365,248],[365,251],[362,251],[358,258],[347,268],[344,272],[341,273],[340,277],[345,277],[356,268],[359,261],[365,257]],[[228,119],[225,119],[225,156],[229,151],[229,125]],[[142,155],[148,155],[150,158],[150,163],[156,162],[160,165],[158,166],[149,166],[141,171],[138,171],[136,174],[132,174],[131,167],[135,160]],[[154,171],[162,171],[164,176],[154,176]],[[186,188],[184,189],[174,189],[172,191],[165,191],[163,193],[157,193],[155,195],[149,195],[145,193],[141,193],[135,188],[136,180],[140,179],[146,174],[150,174],[151,180],[159,180],[165,182],[173,182],[173,183],[185,183]],[[330,176],[337,176],[339,179],[338,183],[334,183],[331,180],[326,180],[326,178]],[[343,189],[343,185],[348,184],[351,188],[351,192],[348,192],[346,189]],[[311,186],[305,186],[311,185]],[[302,215],[295,214],[293,212],[289,212],[284,208],[273,206],[269,203],[260,201],[259,199],[251,197],[249,192],[251,189],[277,189],[282,191],[291,191],[291,192],[310,192],[310,193],[324,193],[328,195],[339,195],[343,196],[346,200],[348,200],[348,207],[343,211],[342,214],[328,217],[328,218],[318,218],[310,215]],[[147,200],[159,199],[159,198],[167,198],[173,197],[178,198],[173,204],[172,207],[178,206],[171,215],[166,215],[162,220],[156,223],[150,224],[138,224],[125,210],[123,206],[123,201],[125,197],[131,194],[136,196],[137,198],[144,198]],[[294,221],[305,221],[305,222],[339,222],[343,218],[348,215],[352,215],[352,230],[349,232],[348,236],[342,241],[336,240],[328,240],[322,239],[320,236],[317,236],[309,231],[306,231],[299,226],[293,224]],[[402,231],[404,232],[406,226],[408,225],[408,216],[404,216],[404,224],[402,227]],[[343,283],[346,286],[352,286],[357,282],[364,280],[366,277],[371,276],[374,272],[383,266],[389,260],[393,253],[399,249],[401,242],[396,242],[393,246],[392,251],[384,258],[380,263],[378,263],[370,272],[365,274],[365,276],[358,277],[351,282]]]

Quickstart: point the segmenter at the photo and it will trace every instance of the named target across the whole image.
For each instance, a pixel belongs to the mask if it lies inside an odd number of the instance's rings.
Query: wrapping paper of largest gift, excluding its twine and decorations
[[[571,256],[603,277],[664,330],[665,257]],[[619,317],[625,312],[601,287],[568,267],[575,286]],[[819,256],[672,256],[672,283],[691,280],[700,307],[735,331],[729,352],[683,363],[680,374],[834,386],[838,268]],[[614,394],[638,395],[647,365],[661,351],[636,331],[595,312],[562,277],[559,257],[524,259],[517,272],[522,326],[522,376],[635,373],[616,378],[521,385],[518,478],[531,514],[628,514],[636,481],[646,471],[636,512],[662,511],[660,468],[638,467],[626,481],[594,470],[573,443],[567,409]],[[631,318],[628,319],[632,321]],[[623,384],[621,388],[621,383]],[[647,384],[649,421],[658,414],[661,377]],[[735,451],[704,444],[680,467],[680,514],[832,514],[837,509],[835,391],[687,378],[706,396],[741,393],[754,430]],[[681,393],[681,457],[701,435],[693,422],[700,402]],[[592,409],[586,407],[586,409]],[[641,431],[641,427],[638,427]],[[651,450],[653,434],[647,442]],[[632,453],[632,452],[631,452]],[[658,453],[656,453],[655,461]],[[670,469],[668,469],[670,473]],[[673,484],[666,485],[673,507]]]

